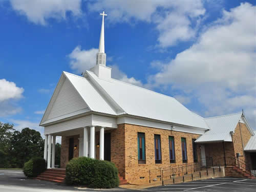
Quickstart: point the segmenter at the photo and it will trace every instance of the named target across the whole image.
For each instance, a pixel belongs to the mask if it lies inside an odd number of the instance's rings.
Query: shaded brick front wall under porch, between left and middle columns
[[[79,135],[61,137],[61,151],[60,151],[60,168],[66,168],[67,163],[69,162],[69,139],[74,138],[74,146],[77,145],[76,150],[74,150],[74,157],[79,156]]]

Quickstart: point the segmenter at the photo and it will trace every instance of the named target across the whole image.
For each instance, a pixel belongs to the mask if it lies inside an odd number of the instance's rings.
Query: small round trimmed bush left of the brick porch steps
[[[45,170],[46,160],[40,157],[30,159],[23,167],[23,172],[27,177],[36,177]]]

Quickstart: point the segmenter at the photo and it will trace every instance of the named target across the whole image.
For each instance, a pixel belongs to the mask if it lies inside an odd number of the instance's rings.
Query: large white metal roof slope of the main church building
[[[100,79],[90,71],[87,73],[125,114],[209,129],[202,117],[189,111],[173,97],[112,78]]]

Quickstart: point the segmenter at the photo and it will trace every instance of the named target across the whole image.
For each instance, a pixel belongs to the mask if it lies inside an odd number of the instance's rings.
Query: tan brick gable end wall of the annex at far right
[[[241,132],[240,132],[240,128],[241,128]],[[241,139],[241,133],[242,133],[242,139]],[[240,155],[242,156],[240,157],[240,159],[245,160],[245,154],[243,153],[243,145],[244,147],[246,146],[250,137],[251,137],[251,134],[247,129],[246,125],[244,123],[238,123],[236,129],[234,130],[234,135],[232,137],[233,145],[234,145],[234,156],[236,156],[237,153],[240,153]],[[242,141],[243,141],[243,145],[242,145]]]

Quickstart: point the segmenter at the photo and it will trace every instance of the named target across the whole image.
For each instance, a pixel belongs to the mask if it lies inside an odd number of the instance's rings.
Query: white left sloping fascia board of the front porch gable
[[[65,81],[65,78],[67,78],[67,77],[62,72],[61,76],[60,76],[60,78],[58,80],[57,86],[55,87],[54,92],[52,94],[52,97],[51,97],[51,99],[50,99],[50,101],[49,101],[49,103],[47,105],[46,111],[45,111],[44,115],[42,116],[42,119],[41,119],[41,121],[39,123],[39,126],[41,126],[42,122],[48,117],[48,115],[49,115],[49,113],[50,113],[50,111],[52,109],[54,100],[56,99],[56,97],[58,95],[58,92],[61,89],[63,82]]]

